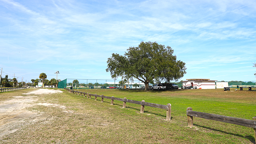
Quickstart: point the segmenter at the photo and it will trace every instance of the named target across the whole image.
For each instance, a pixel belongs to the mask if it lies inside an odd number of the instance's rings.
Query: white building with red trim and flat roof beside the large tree
[[[183,81],[182,85],[197,87],[197,89],[215,89],[215,81],[210,79],[186,79],[187,81]]]

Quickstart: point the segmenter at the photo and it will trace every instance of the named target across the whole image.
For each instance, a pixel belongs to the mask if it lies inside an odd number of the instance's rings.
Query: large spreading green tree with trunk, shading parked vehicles
[[[153,79],[178,81],[186,74],[185,63],[176,60],[176,55],[172,54],[170,46],[165,48],[156,42],[142,41],[138,47],[127,49],[124,56],[112,53],[112,57],[108,58],[106,71],[110,72],[112,78],[137,78],[148,90],[148,83]]]

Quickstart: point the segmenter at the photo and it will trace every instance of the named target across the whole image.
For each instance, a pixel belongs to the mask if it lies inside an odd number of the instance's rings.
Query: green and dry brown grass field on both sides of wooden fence
[[[31,90],[0,93],[0,100],[10,99]],[[62,90],[63,93],[38,95],[37,102],[59,104],[72,113],[58,107],[35,105],[30,111],[40,112],[51,119],[49,123],[36,122],[24,126],[4,137],[13,143],[255,143],[252,128],[194,117],[194,127],[187,126],[186,109],[252,120],[256,116],[255,91],[170,90],[140,91],[128,89],[79,89],[92,94],[114,96],[130,100],[166,105],[172,104],[172,119],[166,121],[166,110],[101,98],[87,99]],[[77,90],[78,91],[78,90]],[[8,94],[7,94],[8,93]]]

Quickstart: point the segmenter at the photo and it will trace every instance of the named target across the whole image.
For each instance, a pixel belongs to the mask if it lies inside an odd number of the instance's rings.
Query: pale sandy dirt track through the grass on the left
[[[60,90],[35,89],[23,93],[26,96],[14,96],[12,99],[0,101],[0,140],[7,134],[13,133],[22,127],[38,121],[47,122],[47,118],[40,112],[26,110],[34,105],[55,106],[65,109],[64,106],[38,102],[38,97],[44,94],[61,93]]]

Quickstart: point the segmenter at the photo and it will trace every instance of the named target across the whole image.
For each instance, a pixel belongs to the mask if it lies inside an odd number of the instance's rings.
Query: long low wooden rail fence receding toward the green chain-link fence
[[[109,100],[111,100],[110,105],[114,104],[114,100],[123,101],[123,108],[126,107],[126,102],[138,104],[138,105],[141,105],[140,106],[140,113],[144,113],[144,106],[165,109],[166,110],[166,120],[171,120],[171,110],[172,110],[171,107],[172,107],[172,105],[170,103],[168,103],[167,105],[161,105],[161,104],[156,104],[156,103],[145,102],[145,100],[142,100],[142,101],[128,100],[126,98],[124,98],[124,99],[115,98],[114,96],[108,97],[108,96],[104,96],[104,95],[91,94],[91,93],[88,93],[88,92],[85,93],[85,92],[74,91],[74,90],[70,90],[70,89],[67,89],[67,88],[64,88],[64,89],[67,90],[68,92],[71,92],[71,93],[74,93],[74,94],[77,93],[77,95],[79,95],[79,93],[80,93],[80,96],[82,96],[82,94],[83,94],[84,97],[85,97],[85,94],[86,94],[87,98],[90,98],[90,99],[91,99],[91,96],[94,96],[95,100],[97,100],[97,97],[100,97],[101,102],[104,102],[103,101],[104,98],[109,99]]]

